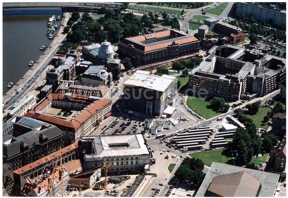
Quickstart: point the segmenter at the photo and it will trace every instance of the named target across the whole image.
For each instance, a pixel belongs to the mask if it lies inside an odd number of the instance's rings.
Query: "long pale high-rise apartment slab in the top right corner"
[[[236,14],[252,16],[253,18],[268,22],[270,19],[276,25],[286,26],[286,11],[272,6],[259,5],[256,2],[236,2]]]

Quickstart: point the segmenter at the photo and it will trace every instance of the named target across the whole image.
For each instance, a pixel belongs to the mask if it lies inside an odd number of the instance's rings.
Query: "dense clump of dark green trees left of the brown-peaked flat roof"
[[[201,159],[186,157],[175,172],[175,176],[182,182],[193,183],[199,186],[204,178],[204,163]]]

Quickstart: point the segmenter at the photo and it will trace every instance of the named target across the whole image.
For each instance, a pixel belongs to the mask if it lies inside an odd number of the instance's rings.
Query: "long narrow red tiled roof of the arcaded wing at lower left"
[[[37,166],[40,166],[41,164],[44,164],[44,163],[47,163],[53,159],[56,159],[58,156],[60,156],[61,152],[62,152],[62,155],[67,153],[68,151],[72,151],[73,149],[76,149],[78,148],[79,146],[79,142],[75,142],[69,146],[66,146],[65,148],[59,150],[59,151],[56,151],[54,153],[51,153],[50,155],[47,155],[46,157],[42,157],[41,159],[38,159],[37,161],[34,161],[30,164],[27,164],[17,170],[14,170],[13,172],[16,173],[16,174],[23,174]]]

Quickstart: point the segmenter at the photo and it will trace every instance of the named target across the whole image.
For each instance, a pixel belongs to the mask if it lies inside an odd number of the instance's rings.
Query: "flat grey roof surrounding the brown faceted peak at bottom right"
[[[253,170],[249,168],[243,168],[240,166],[233,166],[217,162],[213,162],[213,164],[211,165],[195,197],[204,197],[204,194],[214,177],[219,175],[236,173],[240,171],[247,171],[249,174],[251,174],[253,177],[255,177],[257,180],[261,182],[261,189],[258,197],[273,197],[274,192],[276,190],[276,184],[279,180],[280,176],[279,174]]]

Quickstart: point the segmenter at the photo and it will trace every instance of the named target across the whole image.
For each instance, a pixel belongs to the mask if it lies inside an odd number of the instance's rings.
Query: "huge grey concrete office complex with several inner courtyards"
[[[226,100],[251,100],[280,88],[286,79],[286,59],[233,45],[214,46],[189,74],[193,92]]]

